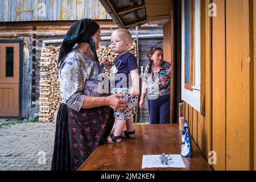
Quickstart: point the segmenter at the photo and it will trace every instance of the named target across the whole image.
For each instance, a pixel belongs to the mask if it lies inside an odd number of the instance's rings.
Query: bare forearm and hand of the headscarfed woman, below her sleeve
[[[123,97],[125,94],[113,94],[108,97],[92,97],[85,96],[84,102],[82,104],[82,109],[89,109],[92,107],[99,106],[109,106],[118,112],[125,109],[127,106],[127,101],[120,100],[118,97]]]

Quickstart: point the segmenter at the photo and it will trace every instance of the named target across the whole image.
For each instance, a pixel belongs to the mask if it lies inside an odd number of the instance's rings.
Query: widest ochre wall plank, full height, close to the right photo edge
[[[226,169],[249,170],[249,1],[226,1]],[[249,36],[248,36],[249,35]],[[230,127],[232,126],[232,127]]]

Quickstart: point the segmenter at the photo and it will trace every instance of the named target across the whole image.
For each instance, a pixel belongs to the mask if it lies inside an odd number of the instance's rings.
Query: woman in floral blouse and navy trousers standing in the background
[[[151,47],[147,56],[150,63],[144,72],[139,106],[144,108],[147,94],[150,123],[167,124],[170,123],[171,64],[163,60],[163,49],[160,47]]]

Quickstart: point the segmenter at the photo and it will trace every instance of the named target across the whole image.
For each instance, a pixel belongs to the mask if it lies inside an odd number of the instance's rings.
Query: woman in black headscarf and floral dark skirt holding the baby
[[[61,44],[63,104],[57,114],[52,170],[78,169],[110,134],[113,109],[127,106],[127,101],[118,99],[123,94],[99,92],[98,76],[104,74],[96,54],[100,41],[100,26],[92,19],[81,19],[72,24]]]

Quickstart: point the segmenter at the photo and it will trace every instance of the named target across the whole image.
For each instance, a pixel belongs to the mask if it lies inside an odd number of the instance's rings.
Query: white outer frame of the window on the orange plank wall
[[[193,7],[193,45],[191,46],[191,55],[193,64],[191,75],[193,82],[191,85],[185,83],[185,0],[181,0],[181,100],[192,106],[200,114],[203,113],[201,107],[201,2],[200,0],[191,0]],[[190,87],[191,86],[191,87]]]

